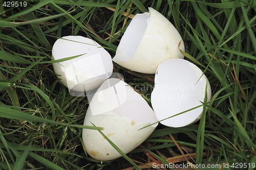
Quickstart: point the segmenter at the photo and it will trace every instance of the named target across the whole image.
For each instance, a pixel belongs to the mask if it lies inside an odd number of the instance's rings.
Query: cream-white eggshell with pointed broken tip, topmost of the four
[[[182,38],[161,13],[136,14],[117,47],[113,61],[133,71],[155,74],[160,63],[184,56],[179,51]],[[184,51],[183,41],[180,49]]]

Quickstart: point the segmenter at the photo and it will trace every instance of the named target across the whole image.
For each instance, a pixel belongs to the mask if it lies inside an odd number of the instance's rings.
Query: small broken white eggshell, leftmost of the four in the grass
[[[82,55],[84,54],[84,55]],[[99,87],[113,72],[110,54],[92,39],[66,36],[58,39],[52,50],[55,60],[72,56],[80,57],[53,63],[60,82],[74,91],[89,91]]]

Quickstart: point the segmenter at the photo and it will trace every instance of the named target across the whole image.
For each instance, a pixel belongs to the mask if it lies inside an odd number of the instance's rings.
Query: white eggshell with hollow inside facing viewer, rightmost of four
[[[155,87],[151,95],[152,107],[157,119],[160,121],[202,105],[206,83],[207,102],[209,102],[210,84],[200,68],[183,59],[161,63],[157,69]],[[202,111],[203,107],[199,107],[160,123],[169,127],[184,127],[197,122],[201,118]]]

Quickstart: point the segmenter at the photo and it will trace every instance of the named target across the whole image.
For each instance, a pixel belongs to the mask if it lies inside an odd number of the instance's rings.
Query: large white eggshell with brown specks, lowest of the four
[[[140,94],[119,79],[108,79],[97,90],[87,110],[84,124],[103,127],[103,132],[125,154],[141,144],[156,128],[154,111]],[[83,129],[87,153],[100,161],[120,157],[112,145],[96,130]]]

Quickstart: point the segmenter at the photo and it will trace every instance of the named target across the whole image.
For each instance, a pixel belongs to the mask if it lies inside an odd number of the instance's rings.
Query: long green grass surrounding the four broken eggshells
[[[3,6],[7,1],[0,2],[0,169],[133,169],[132,164],[140,169],[154,162],[254,169],[255,1],[28,0],[9,8]],[[122,14],[135,15],[148,7],[177,28],[185,43],[182,53],[208,77],[212,99],[202,103],[208,110],[199,123],[183,128],[159,125],[125,159],[100,162],[84,153],[81,131],[101,127],[82,126],[87,98],[71,96],[57,80],[52,45],[61,36],[88,36],[113,57],[131,21]],[[115,12],[109,10],[113,8]],[[126,82],[153,86],[154,75],[114,65]],[[152,89],[139,91],[150,94]]]

